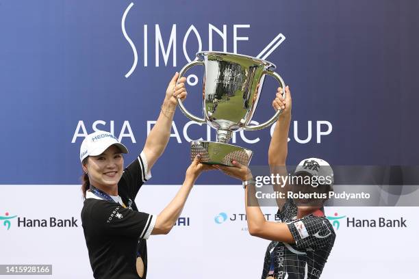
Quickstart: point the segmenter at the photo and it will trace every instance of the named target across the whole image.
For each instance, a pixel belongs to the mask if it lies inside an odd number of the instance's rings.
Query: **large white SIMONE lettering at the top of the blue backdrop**
[[[125,22],[127,19],[127,16],[129,12],[131,11],[131,8],[133,8],[134,3],[130,3],[127,8],[125,9],[125,12],[122,15],[121,18],[121,31],[123,33],[123,36],[127,43],[129,44],[129,47],[131,47],[132,53],[133,53],[133,62],[131,64],[131,68],[126,72],[125,77],[128,78],[134,70],[136,70],[136,67],[138,66],[138,48],[136,47],[136,44],[131,40],[129,34],[127,33],[127,30],[125,28]],[[136,10],[135,8],[133,10]],[[138,11],[138,9],[137,9]],[[132,16],[136,16],[136,11],[134,11],[134,14]],[[200,25],[201,26],[201,25]],[[179,39],[182,41],[182,54],[183,57],[186,59],[186,61],[191,62],[192,59],[195,58],[195,53],[203,50],[213,51],[213,42],[217,40],[218,42],[223,43],[223,51],[229,51],[233,53],[238,53],[238,44],[239,42],[245,42],[249,41],[249,37],[246,36],[247,29],[251,28],[250,24],[223,24],[222,26],[218,25],[212,25],[211,23],[207,24],[208,27],[205,27],[205,29],[197,29],[193,24],[189,25],[186,30],[183,29],[183,26],[178,28],[177,24],[173,23],[166,26],[161,26],[160,24],[154,24],[153,27],[149,28],[149,25],[144,24],[142,26],[142,37],[143,37],[143,45],[142,45],[142,64],[144,67],[149,66],[149,53],[154,51],[154,55],[152,56],[154,58],[154,66],[159,67],[160,66],[160,55],[163,56],[164,59],[164,66],[168,65],[170,55],[172,56],[172,66],[177,66],[177,58],[178,58],[178,42]],[[170,30],[170,31],[168,31]],[[132,33],[137,33],[130,30]],[[154,40],[154,46],[149,46],[149,33],[153,33]],[[170,36],[168,35],[170,33]],[[208,38],[208,46],[203,48],[203,42],[201,40],[202,35]],[[229,38],[230,36],[230,38]],[[232,38],[231,38],[232,36]],[[165,44],[164,38],[168,37],[168,42]],[[182,38],[183,37],[183,38]],[[252,56],[255,56],[260,59],[267,59],[268,56],[275,51],[279,47],[280,44],[285,40],[285,36],[281,34],[280,32],[275,34],[271,37],[273,38],[270,40],[268,44],[266,44],[266,47],[260,46],[259,48],[262,50],[259,52],[259,54],[256,55],[256,53],[248,53]],[[183,40],[182,40],[183,39]],[[233,41],[233,47],[231,50],[227,49],[227,42]],[[153,43],[153,42],[151,42]],[[188,44],[192,46],[196,46],[196,43],[198,44],[197,49],[192,49],[192,51],[188,51]],[[242,43],[241,43],[242,44]],[[149,51],[150,50],[150,51]],[[192,58],[191,58],[192,57]],[[194,81],[188,80],[188,83],[195,83],[196,76],[193,78]]]

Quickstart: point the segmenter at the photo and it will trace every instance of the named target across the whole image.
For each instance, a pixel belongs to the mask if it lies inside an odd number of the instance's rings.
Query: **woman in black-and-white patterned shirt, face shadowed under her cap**
[[[282,89],[278,88],[277,98],[272,102],[275,109],[283,109],[283,112],[277,120],[268,153],[271,173],[279,174],[283,178],[288,176],[285,161],[288,154],[292,106],[288,86],[285,88],[285,93],[284,99]],[[249,233],[272,241],[266,250],[262,279],[318,279],[335,241],[333,226],[322,209],[323,202],[327,198],[286,197],[288,192],[327,194],[333,184],[333,171],[330,165],[321,159],[305,159],[297,166],[294,176],[288,176],[293,181],[299,182],[292,187],[291,183],[274,184],[277,193],[285,194],[285,198],[277,198],[279,210],[276,219],[281,222],[265,220],[255,198],[255,181],[251,171],[236,161],[233,161],[233,165],[235,167],[216,166],[216,168],[243,181]],[[311,181],[308,185],[301,183],[305,178]],[[324,182],[319,183],[320,181]]]

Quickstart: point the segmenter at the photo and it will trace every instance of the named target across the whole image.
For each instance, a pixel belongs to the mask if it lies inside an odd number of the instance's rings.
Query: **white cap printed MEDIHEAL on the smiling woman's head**
[[[109,146],[116,145],[122,153],[128,153],[125,145],[121,144],[112,133],[96,131],[87,135],[80,146],[80,161],[88,156],[101,155]]]

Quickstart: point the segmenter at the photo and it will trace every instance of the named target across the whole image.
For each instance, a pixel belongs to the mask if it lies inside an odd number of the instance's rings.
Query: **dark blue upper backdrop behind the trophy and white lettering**
[[[193,59],[210,49],[211,36],[213,50],[253,56],[285,37],[266,59],[292,90],[290,164],[321,157],[337,165],[417,165],[418,12],[414,0],[1,0],[0,183],[79,183],[77,135],[83,127],[92,132],[97,120],[98,129],[126,134],[129,163],[144,146],[168,81],[188,62],[183,48]],[[225,44],[210,27],[225,28]],[[191,73],[202,77],[200,68]],[[200,85],[188,85],[185,102],[195,114]],[[276,87],[266,79],[255,120],[274,113]],[[178,109],[179,137],[170,138],[150,183],[183,181],[188,121]],[[259,137],[254,144],[237,135],[236,144],[255,152],[252,165],[266,164],[269,132],[246,132]],[[192,125],[187,135],[206,139],[206,128]],[[229,182],[221,174],[199,181]]]

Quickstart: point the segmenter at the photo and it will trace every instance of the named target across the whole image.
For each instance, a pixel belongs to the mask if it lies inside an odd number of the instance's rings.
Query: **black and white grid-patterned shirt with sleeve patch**
[[[295,243],[272,241],[264,260],[262,279],[318,279],[335,242],[335,231],[325,216],[307,215],[296,220],[297,208],[289,199],[278,211]]]

